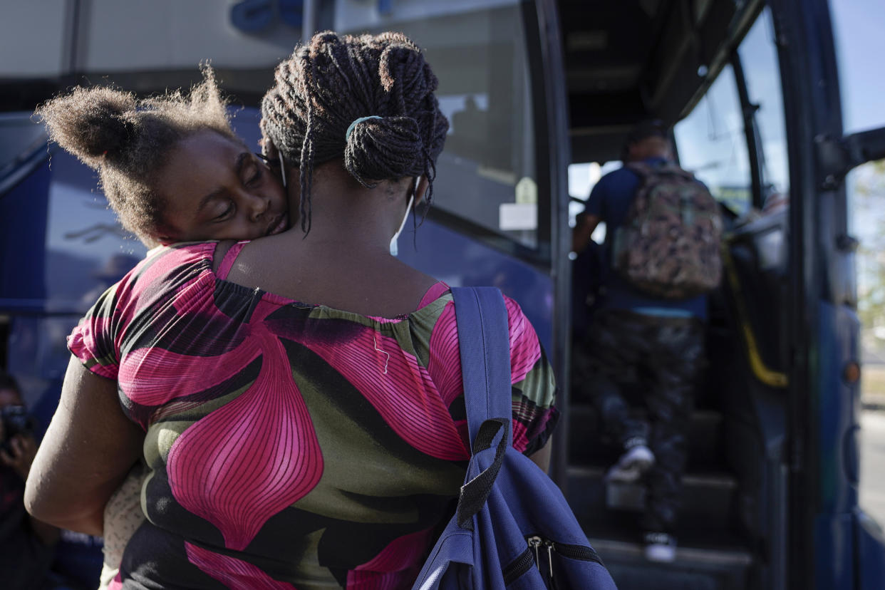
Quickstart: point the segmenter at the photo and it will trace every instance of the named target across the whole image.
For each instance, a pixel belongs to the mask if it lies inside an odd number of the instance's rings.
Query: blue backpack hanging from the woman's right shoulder
[[[412,590],[615,590],[557,485],[512,447],[510,341],[501,292],[451,292],[472,456],[455,516]]]

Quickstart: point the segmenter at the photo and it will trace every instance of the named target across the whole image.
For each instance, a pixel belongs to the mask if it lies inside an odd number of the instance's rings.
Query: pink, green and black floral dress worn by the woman
[[[153,251],[69,337],[145,431],[147,520],[124,588],[409,588],[469,458],[455,310],[373,318],[212,271],[216,242]],[[513,443],[542,448],[554,382],[509,313]],[[113,587],[112,586],[112,587]]]

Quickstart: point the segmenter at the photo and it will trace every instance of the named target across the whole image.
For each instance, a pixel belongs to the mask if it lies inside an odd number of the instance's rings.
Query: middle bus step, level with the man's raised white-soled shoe
[[[603,467],[568,468],[567,498],[586,526],[627,525],[645,504],[645,487],[604,481]],[[682,476],[679,522],[702,529],[727,530],[737,502],[737,481],[723,472],[689,472]],[[627,514],[625,514],[627,513]]]

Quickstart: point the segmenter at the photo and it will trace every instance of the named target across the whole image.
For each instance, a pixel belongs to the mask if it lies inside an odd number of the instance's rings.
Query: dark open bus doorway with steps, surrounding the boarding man
[[[783,107],[779,93],[771,93],[780,86],[777,53],[771,16],[761,3],[695,9],[688,14],[684,5],[662,4],[651,12],[612,8],[596,19],[585,16],[583,27],[578,12],[563,15],[566,48],[573,48],[566,49],[567,80],[579,80],[569,88],[573,154],[575,162],[591,163],[573,167],[574,177],[590,177],[575,187],[573,197],[586,199],[588,185],[620,167],[636,121],[664,119],[675,124],[681,166],[695,172],[720,202],[727,251],[743,244],[730,275],[740,291],[724,285],[710,295],[709,370],[697,388],[689,423],[675,562],[644,559],[638,516],[646,489],[604,482],[617,450],[601,436],[582,391],[585,384],[579,382],[572,391],[568,498],[620,588],[782,588],[787,525],[778,515],[786,486],[786,396],[782,383],[760,381],[750,363],[753,355],[764,354],[771,367],[780,368],[779,334],[757,337],[766,345],[762,353],[747,345],[760,326],[776,328],[777,322],[766,318],[777,315],[771,298],[784,272],[776,256],[784,248],[785,218],[761,220],[758,214],[767,195],[787,186]],[[765,125],[757,124],[752,101],[765,111]],[[766,142],[758,140],[763,132]],[[760,239],[774,250],[764,271],[757,260]],[[575,269],[575,284],[579,272],[585,270]],[[746,308],[740,316],[738,303]],[[766,315],[759,316],[759,310]],[[747,330],[754,330],[750,338],[744,337]],[[575,341],[573,355],[584,354],[583,346]],[[641,412],[641,392],[624,393]]]

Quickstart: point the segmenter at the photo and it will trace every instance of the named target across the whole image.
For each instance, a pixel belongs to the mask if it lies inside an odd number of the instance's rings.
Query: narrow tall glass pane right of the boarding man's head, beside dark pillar
[[[762,165],[763,203],[769,195],[789,192],[787,132],[783,120],[781,72],[774,45],[771,12],[766,8],[737,49],[750,102],[758,105],[756,128]]]

